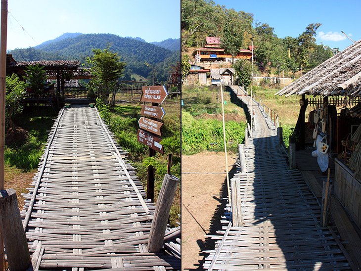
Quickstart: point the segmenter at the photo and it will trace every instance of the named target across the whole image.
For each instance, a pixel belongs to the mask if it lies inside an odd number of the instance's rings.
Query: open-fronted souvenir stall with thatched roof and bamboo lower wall
[[[361,227],[361,40],[275,95],[302,97],[292,136],[299,149],[317,149],[315,135],[327,140],[335,164],[333,193]],[[307,106],[314,107],[309,114]]]

